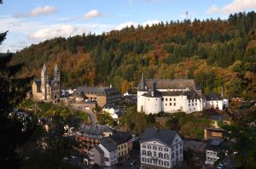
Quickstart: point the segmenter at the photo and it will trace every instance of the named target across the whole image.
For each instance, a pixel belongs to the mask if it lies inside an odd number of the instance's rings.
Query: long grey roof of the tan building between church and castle
[[[115,88],[112,87],[78,87],[76,93],[83,92],[87,94],[96,94],[96,95],[114,95],[120,94]]]

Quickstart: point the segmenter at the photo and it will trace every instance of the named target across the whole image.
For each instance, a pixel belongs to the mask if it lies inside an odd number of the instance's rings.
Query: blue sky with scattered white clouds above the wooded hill
[[[0,32],[9,31],[0,52],[20,50],[54,37],[119,30],[159,21],[227,19],[251,11],[256,0],[3,0]]]

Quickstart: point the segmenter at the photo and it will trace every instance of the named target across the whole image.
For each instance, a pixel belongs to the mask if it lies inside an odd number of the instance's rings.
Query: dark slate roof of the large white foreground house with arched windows
[[[154,140],[159,140],[160,142],[168,146],[172,146],[172,143],[176,136],[177,136],[177,131],[174,131],[174,130],[147,128],[143,133],[141,142],[154,139]]]

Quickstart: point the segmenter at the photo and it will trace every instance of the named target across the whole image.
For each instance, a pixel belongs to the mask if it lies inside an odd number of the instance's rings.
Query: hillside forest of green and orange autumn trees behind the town
[[[109,85],[120,91],[147,78],[195,78],[206,93],[255,98],[256,13],[228,20],[183,20],[131,25],[102,35],[58,37],[24,48],[14,63],[21,76],[39,76],[44,63],[61,67],[64,87]]]

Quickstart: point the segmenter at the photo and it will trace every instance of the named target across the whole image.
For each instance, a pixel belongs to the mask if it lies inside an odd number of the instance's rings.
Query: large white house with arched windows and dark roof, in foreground
[[[172,168],[183,161],[183,139],[177,131],[147,128],[140,141],[141,165]]]

